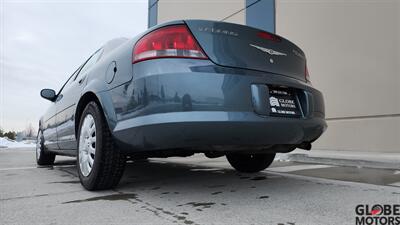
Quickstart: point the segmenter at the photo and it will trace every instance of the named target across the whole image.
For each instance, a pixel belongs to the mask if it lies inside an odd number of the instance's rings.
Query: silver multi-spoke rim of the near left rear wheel
[[[89,176],[96,154],[96,124],[92,115],[85,116],[79,135],[79,167],[83,176]]]

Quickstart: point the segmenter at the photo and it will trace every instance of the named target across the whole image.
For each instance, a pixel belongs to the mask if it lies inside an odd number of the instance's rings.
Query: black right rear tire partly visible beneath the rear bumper
[[[227,154],[229,164],[239,172],[256,173],[266,169],[274,161],[275,153],[268,154]]]

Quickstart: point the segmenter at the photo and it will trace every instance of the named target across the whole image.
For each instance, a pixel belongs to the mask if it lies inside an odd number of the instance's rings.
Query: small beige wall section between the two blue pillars
[[[179,19],[222,20],[244,7],[245,0],[160,0],[157,23]],[[244,10],[224,21],[244,24]]]

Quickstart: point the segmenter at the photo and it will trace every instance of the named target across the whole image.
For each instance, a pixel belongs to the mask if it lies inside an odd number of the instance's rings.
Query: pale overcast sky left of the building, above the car
[[[1,4],[0,127],[24,130],[58,89],[105,42],[147,28],[147,0],[7,1]]]

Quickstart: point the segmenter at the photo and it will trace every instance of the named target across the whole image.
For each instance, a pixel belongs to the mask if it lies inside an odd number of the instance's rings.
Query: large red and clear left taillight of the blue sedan
[[[156,58],[207,59],[207,56],[186,25],[173,25],[146,34],[136,43],[132,63]]]

